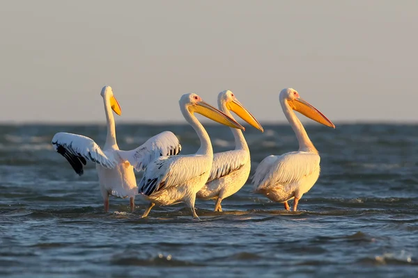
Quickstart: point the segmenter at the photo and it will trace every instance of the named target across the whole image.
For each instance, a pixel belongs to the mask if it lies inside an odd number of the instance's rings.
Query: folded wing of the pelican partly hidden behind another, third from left
[[[244,150],[233,150],[214,154],[212,169],[210,170],[207,183],[240,170],[248,159],[249,155]]]

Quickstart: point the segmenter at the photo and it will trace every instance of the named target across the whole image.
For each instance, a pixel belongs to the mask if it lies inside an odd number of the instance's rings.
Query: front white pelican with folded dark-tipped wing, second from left
[[[139,193],[150,201],[142,215],[145,218],[155,204],[167,206],[185,202],[199,219],[194,209],[196,193],[205,185],[212,168],[213,150],[208,133],[194,113],[199,113],[215,122],[236,129],[244,127],[217,108],[210,106],[196,94],[186,94],[180,98],[180,110],[185,120],[193,127],[201,141],[196,154],[182,156],[160,156],[148,164],[139,182]]]

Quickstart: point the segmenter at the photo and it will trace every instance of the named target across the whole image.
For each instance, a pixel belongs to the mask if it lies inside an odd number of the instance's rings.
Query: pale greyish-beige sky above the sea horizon
[[[232,90],[284,122],[291,87],[333,122],[418,119],[418,1],[3,1],[0,122],[184,122]],[[302,117],[302,116],[300,116]]]

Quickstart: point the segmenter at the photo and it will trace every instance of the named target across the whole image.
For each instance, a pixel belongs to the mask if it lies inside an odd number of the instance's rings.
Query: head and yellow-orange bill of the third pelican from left
[[[264,131],[263,126],[261,126],[256,118],[251,115],[251,113],[249,113],[244,106],[242,106],[240,101],[238,101],[233,92],[230,90],[219,92],[218,105],[219,107],[225,107],[229,111],[233,111],[233,113],[237,114],[242,120],[245,120],[245,122],[251,124],[251,126],[254,126],[261,132]]]

